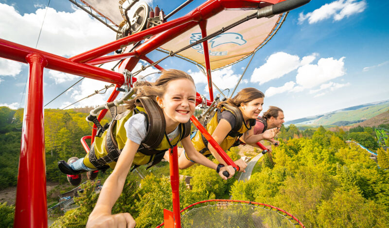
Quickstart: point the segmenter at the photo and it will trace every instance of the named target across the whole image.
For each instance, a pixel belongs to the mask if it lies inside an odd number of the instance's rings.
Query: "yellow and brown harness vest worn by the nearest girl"
[[[116,114],[116,106],[109,109],[113,119],[102,136],[95,137],[95,141],[84,159],[84,163],[88,167],[94,166],[90,168],[97,169],[106,169],[107,166],[112,169],[115,167],[127,141],[124,123],[133,114],[140,113],[145,115],[147,130],[146,136],[142,140],[138,152],[135,154],[133,161],[134,168],[142,164],[150,163],[151,161],[153,163],[149,167],[159,163],[166,150],[176,146],[179,141],[190,134],[191,123],[188,121],[185,124],[179,124],[177,137],[169,141],[165,132],[165,117],[158,104],[148,97],[138,98],[137,102],[140,102],[143,107],[137,106],[133,111],[127,110],[122,114]]]

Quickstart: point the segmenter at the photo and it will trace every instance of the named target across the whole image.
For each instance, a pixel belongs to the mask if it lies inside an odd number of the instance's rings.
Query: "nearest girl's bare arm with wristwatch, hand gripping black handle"
[[[195,163],[199,163],[199,164],[202,164],[204,166],[207,166],[208,168],[216,170],[217,165],[215,163],[210,161],[208,158],[206,158],[201,153],[197,152],[197,150],[195,149],[195,147],[192,144],[190,136],[181,140],[181,143],[185,149],[185,152],[187,153],[188,157],[191,160],[193,160]],[[230,176],[228,178],[223,175],[223,171],[225,171],[225,170],[227,170],[230,174]],[[222,167],[220,169],[220,172],[219,172],[220,177],[222,177],[223,179],[229,179],[234,174],[235,174],[235,170],[233,169],[233,167],[231,165]]]

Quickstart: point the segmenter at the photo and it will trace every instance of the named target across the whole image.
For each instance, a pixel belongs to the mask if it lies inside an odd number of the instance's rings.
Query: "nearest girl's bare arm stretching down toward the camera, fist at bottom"
[[[123,191],[125,179],[139,144],[127,139],[115,169],[106,179],[96,206],[89,215],[87,228],[95,227],[135,227],[135,220],[129,213],[111,214],[112,207]]]

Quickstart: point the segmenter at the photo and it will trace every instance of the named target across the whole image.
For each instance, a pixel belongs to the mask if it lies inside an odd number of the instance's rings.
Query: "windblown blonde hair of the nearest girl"
[[[157,101],[156,97],[163,97],[167,90],[168,83],[173,80],[188,79],[192,81],[195,86],[193,78],[182,70],[169,69],[162,71],[161,76],[155,82],[137,81],[134,84],[135,98],[124,101],[125,108],[132,110],[136,106],[142,106],[141,103],[137,103],[136,99],[140,97],[149,97],[154,101]]]

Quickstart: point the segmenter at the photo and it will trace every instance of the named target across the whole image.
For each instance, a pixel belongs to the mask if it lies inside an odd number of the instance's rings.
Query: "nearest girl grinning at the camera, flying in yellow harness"
[[[189,126],[190,130],[189,119],[195,111],[196,89],[190,75],[180,70],[167,70],[156,82],[148,83],[148,85],[143,83],[142,86],[135,86],[134,89],[136,97],[126,102],[128,114],[125,112],[124,118],[118,118],[115,128],[112,129],[113,137],[120,151],[116,161],[110,161],[112,156],[106,152],[109,149],[101,142],[106,138],[96,137],[94,146],[92,145],[84,159],[79,159],[71,164],[62,163],[69,167],[61,168],[60,166],[61,171],[73,172],[91,171],[107,165],[114,168],[103,185],[95,208],[89,215],[88,228],[134,228],[135,220],[129,213],[111,214],[113,205],[123,191],[124,182],[131,166],[152,162],[159,154],[163,156],[167,149],[176,146],[179,141],[187,151],[188,156],[196,163],[214,170],[217,168],[215,163],[198,153],[193,147],[190,137],[185,136],[189,135],[187,127]],[[147,102],[149,105],[143,107],[143,104]],[[153,104],[155,108],[151,108]],[[158,132],[158,130],[162,133],[153,133]],[[150,134],[154,136],[149,137]],[[155,142],[159,142],[159,145],[156,145]],[[121,149],[122,145],[124,147]],[[103,162],[97,163],[98,160]],[[102,164],[104,161],[107,163]],[[219,175],[223,179],[227,179],[222,175],[223,171],[228,171],[230,177],[235,173],[232,166],[223,167],[219,170]]]

